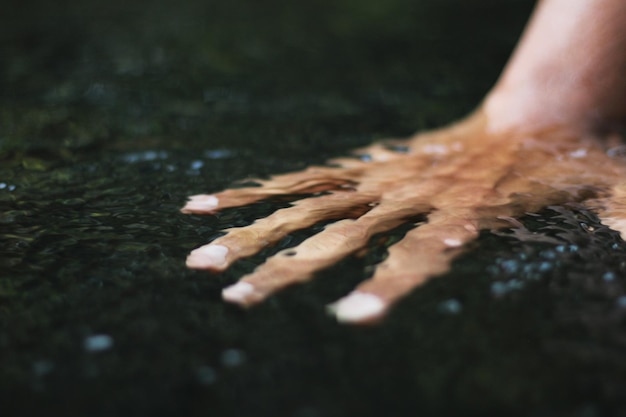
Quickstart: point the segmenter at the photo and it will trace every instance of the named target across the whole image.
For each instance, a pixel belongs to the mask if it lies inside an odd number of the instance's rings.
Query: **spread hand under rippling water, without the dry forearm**
[[[486,130],[478,112],[406,142],[361,149],[361,158],[278,175],[260,181],[261,187],[193,196],[184,213],[210,214],[276,195],[321,193],[250,226],[226,230],[192,251],[187,265],[222,271],[290,232],[336,220],[224,289],[225,300],[250,306],[362,249],[374,234],[421,219],[390,247],[370,279],[331,306],[339,321],[366,323],[446,272],[480,230],[520,226],[516,217],[548,205],[583,203],[624,236],[626,166],[607,154],[606,143],[564,129],[534,134]]]

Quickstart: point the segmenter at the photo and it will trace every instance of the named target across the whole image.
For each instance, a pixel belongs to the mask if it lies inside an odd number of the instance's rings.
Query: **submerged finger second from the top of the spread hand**
[[[187,266],[224,270],[236,260],[254,255],[294,230],[331,219],[359,217],[371,209],[369,203],[375,199],[375,196],[336,192],[299,200],[292,207],[277,210],[250,226],[229,229],[225,236],[195,249],[187,258]]]

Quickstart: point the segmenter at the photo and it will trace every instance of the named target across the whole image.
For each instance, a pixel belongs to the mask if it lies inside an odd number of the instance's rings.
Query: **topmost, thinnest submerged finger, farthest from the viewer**
[[[354,189],[358,175],[357,170],[338,171],[336,168],[312,167],[301,172],[277,175],[267,181],[257,181],[260,187],[191,196],[181,212],[209,214],[229,207],[245,206],[272,196]]]

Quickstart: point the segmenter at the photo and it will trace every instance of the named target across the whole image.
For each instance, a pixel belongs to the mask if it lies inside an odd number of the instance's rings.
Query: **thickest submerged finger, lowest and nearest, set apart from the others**
[[[429,216],[427,224],[410,230],[389,248],[389,257],[371,279],[329,309],[340,322],[380,319],[396,300],[450,268],[460,248],[478,235],[475,222],[469,218],[442,212]]]

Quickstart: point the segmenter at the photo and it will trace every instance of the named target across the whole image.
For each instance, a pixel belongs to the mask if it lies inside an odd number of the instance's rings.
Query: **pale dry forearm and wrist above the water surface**
[[[493,130],[626,122],[626,1],[540,1],[485,109]]]

